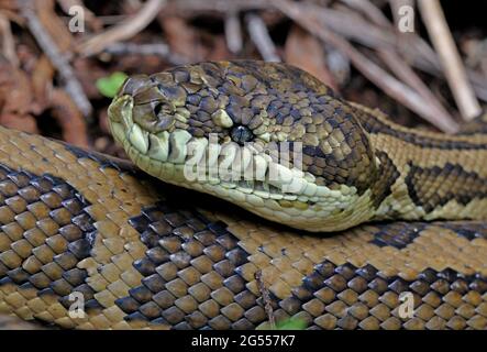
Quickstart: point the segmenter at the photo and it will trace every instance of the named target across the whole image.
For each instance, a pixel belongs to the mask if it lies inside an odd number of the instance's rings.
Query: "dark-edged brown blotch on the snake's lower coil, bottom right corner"
[[[400,276],[380,275],[379,270],[370,264],[355,267],[351,263],[336,265],[324,261],[303,277],[302,284],[292,289],[291,296],[277,300],[277,311],[284,310],[284,317],[298,315],[311,330],[386,329],[386,322],[392,320],[399,327],[407,327],[409,320],[399,320],[392,314],[400,304],[396,298],[401,293],[413,294],[414,309],[423,306],[433,311],[444,304],[442,299],[450,302],[450,297],[463,296],[469,290],[485,294],[486,279],[447,267],[441,272],[427,268],[416,279],[406,280]],[[442,311],[435,314],[439,319]],[[454,319],[465,322],[474,315],[476,317],[472,319],[480,318],[480,314],[474,314],[465,319],[462,314],[460,310],[453,311],[446,320],[440,319],[440,323],[447,324],[449,320]],[[414,319],[429,329],[431,316],[417,312]],[[441,324],[432,327],[439,329]]]

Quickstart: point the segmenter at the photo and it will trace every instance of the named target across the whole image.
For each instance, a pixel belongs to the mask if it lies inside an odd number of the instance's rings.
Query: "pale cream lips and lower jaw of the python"
[[[132,109],[130,96],[114,99],[111,132],[140,168],[166,183],[311,232],[347,229],[374,216],[368,191],[319,186],[312,174],[274,161],[258,144],[196,138],[182,129],[150,133],[133,121]]]

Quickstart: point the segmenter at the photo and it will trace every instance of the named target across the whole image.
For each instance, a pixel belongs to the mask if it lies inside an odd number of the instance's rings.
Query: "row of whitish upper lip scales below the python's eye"
[[[121,123],[112,122],[113,134],[133,154],[130,156],[147,158],[152,165],[171,167],[179,172],[174,176],[182,176],[188,184],[220,184],[262,198],[305,202],[318,202],[321,198],[340,200],[344,196],[343,191],[317,186],[311,174],[275,163],[267,154],[252,154],[246,146],[211,144],[184,130],[146,134],[136,124],[134,127],[125,132]],[[141,136],[141,133],[146,135]],[[145,140],[143,144],[142,140]]]

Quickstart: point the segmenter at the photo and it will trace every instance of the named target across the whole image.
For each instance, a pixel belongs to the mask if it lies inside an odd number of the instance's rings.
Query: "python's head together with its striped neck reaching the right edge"
[[[487,217],[487,164],[478,163],[487,156],[484,133],[396,125],[284,64],[201,63],[135,76],[109,111],[115,139],[145,172],[294,228]],[[213,162],[212,134],[221,150]],[[288,165],[267,153],[284,143],[292,151]],[[233,163],[237,177],[189,179],[185,165],[201,160],[203,175]]]

